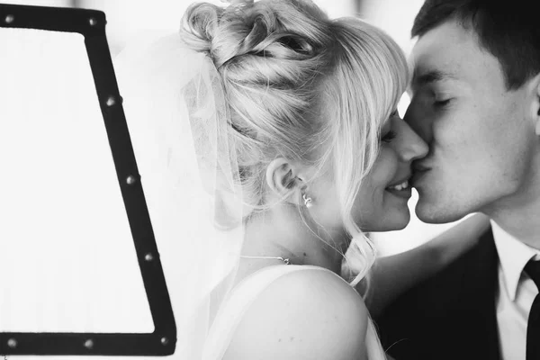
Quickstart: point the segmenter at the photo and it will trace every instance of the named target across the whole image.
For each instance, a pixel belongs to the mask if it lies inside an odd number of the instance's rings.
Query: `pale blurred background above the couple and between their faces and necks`
[[[220,4],[220,0],[210,0]],[[107,17],[107,36],[114,58],[130,39],[150,32],[174,32],[184,9],[192,0],[0,0],[4,4],[31,4],[41,6],[78,7],[101,10]],[[380,26],[401,45],[409,55],[413,45],[410,27],[423,0],[315,0],[330,17],[360,16],[370,23]],[[401,100],[401,114],[405,111],[409,98],[405,94]],[[414,205],[418,199],[413,193],[410,200],[410,225],[400,231],[371,234],[381,255],[391,255],[416,247],[438,233],[454,225],[429,225],[419,221],[414,215]]]

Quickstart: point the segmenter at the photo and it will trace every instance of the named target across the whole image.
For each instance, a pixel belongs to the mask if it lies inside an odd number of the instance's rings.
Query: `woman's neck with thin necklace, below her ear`
[[[247,222],[242,255],[251,268],[265,267],[273,260],[260,257],[283,257],[291,264],[322,266],[339,273],[346,249],[343,233],[318,231],[315,224],[302,219],[296,207],[282,204]]]

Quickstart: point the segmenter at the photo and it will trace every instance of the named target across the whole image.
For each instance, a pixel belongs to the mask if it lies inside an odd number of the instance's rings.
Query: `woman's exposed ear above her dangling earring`
[[[268,188],[287,202],[298,204],[305,186],[303,177],[303,167],[284,157],[275,158],[266,167]]]

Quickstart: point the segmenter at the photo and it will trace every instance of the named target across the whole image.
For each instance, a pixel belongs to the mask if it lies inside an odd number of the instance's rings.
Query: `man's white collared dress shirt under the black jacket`
[[[536,284],[523,272],[531,258],[540,260],[540,250],[529,247],[491,220],[499,253],[499,291],[495,295],[503,360],[525,360],[527,320],[538,294]]]

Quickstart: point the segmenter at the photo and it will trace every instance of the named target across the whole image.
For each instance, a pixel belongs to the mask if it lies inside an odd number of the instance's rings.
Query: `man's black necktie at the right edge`
[[[540,290],[540,261],[529,261],[525,271]],[[536,295],[527,322],[527,360],[540,360],[540,293]]]

